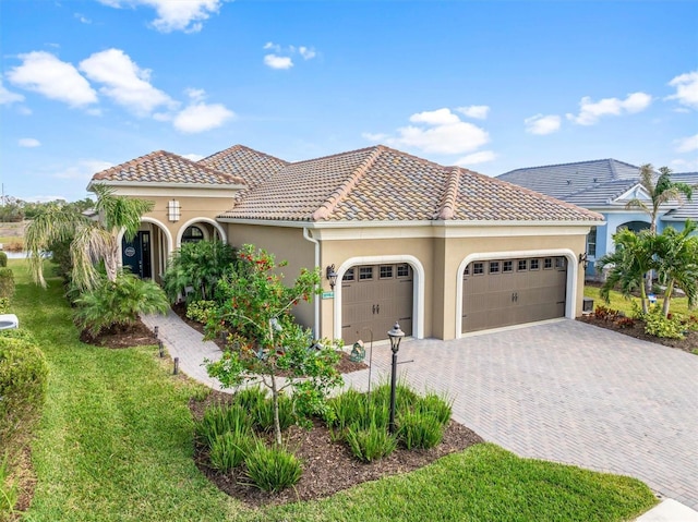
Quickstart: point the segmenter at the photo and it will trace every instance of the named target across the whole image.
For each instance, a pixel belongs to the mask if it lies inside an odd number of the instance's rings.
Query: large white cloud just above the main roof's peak
[[[418,112],[410,117],[412,123],[397,130],[397,136],[386,143],[396,147],[416,148],[423,153],[464,154],[476,150],[490,141],[483,129],[461,121],[449,109]]]

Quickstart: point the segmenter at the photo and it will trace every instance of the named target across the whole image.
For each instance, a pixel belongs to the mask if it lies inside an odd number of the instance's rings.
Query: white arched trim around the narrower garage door
[[[357,265],[382,265],[388,263],[407,263],[412,267],[412,337],[424,338],[424,267],[420,260],[411,255],[393,256],[361,256],[350,257],[337,269],[337,284],[335,286],[335,313],[333,338],[341,339],[341,278],[345,272]]]

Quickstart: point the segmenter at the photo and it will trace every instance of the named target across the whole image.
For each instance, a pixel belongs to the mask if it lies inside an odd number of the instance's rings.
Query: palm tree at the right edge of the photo
[[[689,306],[698,304],[698,235],[690,235],[698,228],[690,220],[677,232],[669,227],[654,242],[657,274],[664,290],[662,313],[669,316],[669,306],[674,288],[686,293]]]

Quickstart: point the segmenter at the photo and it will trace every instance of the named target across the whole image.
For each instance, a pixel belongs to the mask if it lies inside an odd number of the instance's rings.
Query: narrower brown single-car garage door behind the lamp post
[[[361,339],[387,339],[395,321],[412,333],[412,268],[406,264],[361,265],[341,280],[341,338],[345,344]]]

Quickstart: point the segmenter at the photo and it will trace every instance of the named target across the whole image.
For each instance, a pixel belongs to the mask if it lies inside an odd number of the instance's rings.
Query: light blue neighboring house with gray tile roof
[[[577,163],[549,165],[506,172],[498,180],[573,203],[604,217],[604,223],[591,229],[587,240],[587,276],[597,276],[595,259],[613,251],[613,234],[621,227],[639,231],[650,227],[650,216],[639,208],[626,208],[630,199],[650,197],[639,183],[640,168],[615,159]],[[673,173],[672,181],[696,185],[691,202],[662,205],[657,223],[661,233],[666,227],[683,230],[686,219],[698,221],[698,172]]]

